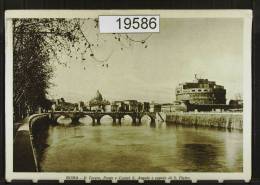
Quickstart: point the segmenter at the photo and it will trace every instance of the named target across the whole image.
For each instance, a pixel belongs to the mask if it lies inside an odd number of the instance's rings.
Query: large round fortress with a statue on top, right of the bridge
[[[194,82],[180,83],[176,88],[176,100],[191,105],[225,105],[226,89],[208,79],[196,78]]]

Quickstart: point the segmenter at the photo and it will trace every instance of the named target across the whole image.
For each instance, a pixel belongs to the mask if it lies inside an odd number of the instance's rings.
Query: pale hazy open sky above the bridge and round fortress
[[[160,19],[160,33],[153,33],[145,44],[133,42],[131,46],[86,25],[88,38],[100,43],[95,56],[109,56],[105,62],[108,67],[91,58],[83,62],[64,55],[61,58],[69,67],[54,66],[54,86],[49,89],[49,96],[86,102],[99,90],[109,101],[171,103],[177,85],[192,82],[197,74],[223,85],[227,99],[234,98],[243,87],[242,23],[241,19],[231,18]],[[129,36],[142,40],[149,34]]]

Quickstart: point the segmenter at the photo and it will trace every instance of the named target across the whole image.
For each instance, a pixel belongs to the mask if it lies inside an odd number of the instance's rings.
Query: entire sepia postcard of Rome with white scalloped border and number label
[[[250,10],[10,10],[6,180],[251,178]]]

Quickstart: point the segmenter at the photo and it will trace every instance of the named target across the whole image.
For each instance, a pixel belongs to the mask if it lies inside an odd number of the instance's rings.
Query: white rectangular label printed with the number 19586
[[[159,15],[99,16],[100,33],[159,32]]]

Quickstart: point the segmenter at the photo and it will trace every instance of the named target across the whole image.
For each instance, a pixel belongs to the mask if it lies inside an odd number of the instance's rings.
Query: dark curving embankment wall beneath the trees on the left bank
[[[13,169],[15,172],[37,172],[39,171],[38,150],[41,148],[42,133],[48,131],[48,114],[34,114],[29,117],[28,122],[21,125],[14,138]]]

